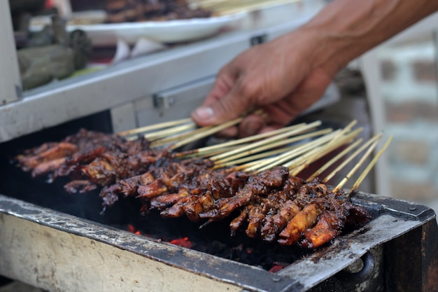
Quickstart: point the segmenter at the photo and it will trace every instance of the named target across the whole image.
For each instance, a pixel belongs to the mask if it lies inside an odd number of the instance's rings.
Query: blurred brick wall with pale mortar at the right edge
[[[432,37],[379,49],[391,195],[438,209],[437,52]]]

